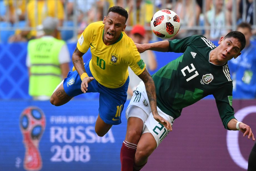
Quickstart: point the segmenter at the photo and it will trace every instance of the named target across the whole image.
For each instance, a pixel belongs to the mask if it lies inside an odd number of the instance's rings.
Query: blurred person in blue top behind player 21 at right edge
[[[242,54],[228,63],[233,80],[233,99],[256,98],[256,46],[250,42],[252,28],[249,23],[242,22],[237,31],[245,35],[246,44]]]

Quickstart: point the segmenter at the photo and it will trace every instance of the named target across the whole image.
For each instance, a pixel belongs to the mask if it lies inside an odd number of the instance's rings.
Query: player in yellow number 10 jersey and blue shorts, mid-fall
[[[157,113],[154,81],[134,42],[124,33],[127,18],[125,9],[114,6],[109,8],[103,23],[95,22],[86,27],[72,55],[76,71],[69,72],[50,100],[59,106],[76,95],[99,92],[99,115],[95,124],[98,136],[104,136],[112,125],[121,123],[129,84],[128,66],[145,83],[147,103],[150,103],[154,118],[171,129],[170,123]],[[82,56],[90,47],[92,58],[84,64]]]

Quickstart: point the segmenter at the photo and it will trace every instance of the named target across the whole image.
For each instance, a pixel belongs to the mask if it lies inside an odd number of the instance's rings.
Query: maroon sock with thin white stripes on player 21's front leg
[[[132,144],[127,141],[123,142],[123,145],[121,147],[121,152],[120,152],[121,171],[133,170],[136,148],[137,148],[136,144]]]

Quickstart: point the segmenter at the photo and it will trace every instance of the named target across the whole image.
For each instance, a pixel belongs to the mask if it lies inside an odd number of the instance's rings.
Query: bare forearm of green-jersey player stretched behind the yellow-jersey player
[[[167,52],[169,50],[168,40],[155,42],[155,43],[144,43],[144,44],[135,43],[135,45],[139,53],[143,53],[146,50],[154,50],[159,52]]]

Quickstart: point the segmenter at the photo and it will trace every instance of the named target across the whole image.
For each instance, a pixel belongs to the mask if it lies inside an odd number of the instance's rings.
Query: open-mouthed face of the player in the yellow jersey
[[[118,40],[121,32],[126,28],[125,22],[126,18],[115,12],[109,12],[109,14],[104,17],[103,42],[106,45],[112,45]]]

